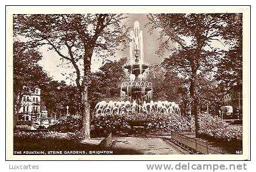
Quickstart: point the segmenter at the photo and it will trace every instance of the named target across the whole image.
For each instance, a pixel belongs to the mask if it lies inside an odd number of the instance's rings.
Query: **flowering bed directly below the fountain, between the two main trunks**
[[[146,132],[192,132],[194,130],[193,119],[183,116],[161,116],[136,114],[134,116],[98,116],[91,122],[92,135],[114,135],[131,133],[132,125],[144,126]]]

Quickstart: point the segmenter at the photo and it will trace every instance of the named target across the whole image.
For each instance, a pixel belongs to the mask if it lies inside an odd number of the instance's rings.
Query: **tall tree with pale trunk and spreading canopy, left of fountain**
[[[68,61],[76,74],[76,86],[83,106],[83,136],[90,139],[88,81],[91,59],[114,54],[124,43],[125,27],[120,14],[15,15],[15,35],[26,37],[31,47],[47,45],[61,60]]]

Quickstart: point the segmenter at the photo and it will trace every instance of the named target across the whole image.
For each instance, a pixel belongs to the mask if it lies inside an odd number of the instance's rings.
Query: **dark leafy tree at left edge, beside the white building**
[[[30,95],[35,87],[43,87],[51,78],[37,64],[42,56],[36,49],[29,49],[24,43],[13,43],[13,126],[16,127],[23,95]]]

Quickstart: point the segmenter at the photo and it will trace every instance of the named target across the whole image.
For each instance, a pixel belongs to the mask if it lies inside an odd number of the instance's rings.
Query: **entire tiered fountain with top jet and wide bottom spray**
[[[179,105],[175,102],[151,100],[152,83],[146,81],[149,65],[144,63],[143,36],[138,21],[134,23],[134,30],[130,32],[130,39],[130,59],[128,64],[124,65],[128,81],[122,82],[121,85],[121,98],[124,101],[98,102],[94,108],[94,116],[129,115],[134,112],[148,115],[180,115]]]

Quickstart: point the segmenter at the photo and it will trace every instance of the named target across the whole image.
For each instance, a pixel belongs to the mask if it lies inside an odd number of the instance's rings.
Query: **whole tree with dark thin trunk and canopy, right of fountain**
[[[234,13],[148,15],[152,29],[160,29],[161,46],[158,54],[161,56],[165,50],[172,51],[163,62],[164,67],[189,80],[196,137],[199,136],[197,75],[213,75],[219,59],[227,58],[223,56],[220,46],[214,46],[213,43],[234,46],[237,38],[230,28],[235,25],[234,20],[240,20],[237,15],[241,16]],[[175,44],[173,49],[170,49],[170,43]]]

